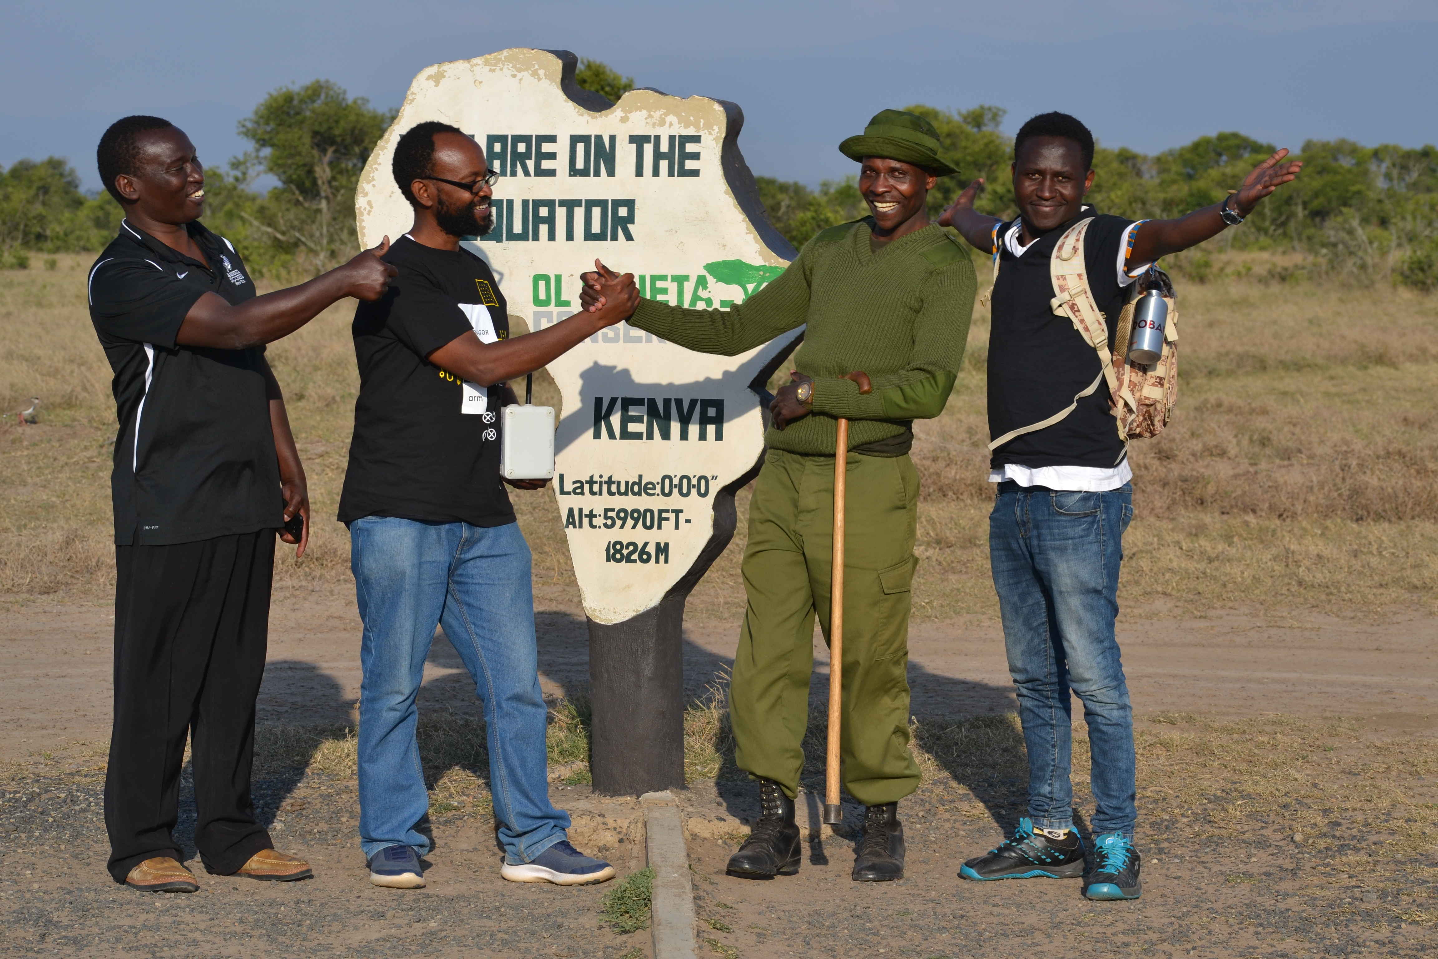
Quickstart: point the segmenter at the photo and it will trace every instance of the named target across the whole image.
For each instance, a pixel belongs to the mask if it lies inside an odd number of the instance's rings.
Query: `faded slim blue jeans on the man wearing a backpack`
[[[1089,725],[1093,832],[1133,838],[1133,710],[1113,635],[1132,518],[1129,485],[1074,493],[1012,482],[999,483],[989,515],[989,562],[1028,749],[1028,815],[1040,828],[1073,828],[1073,690]]]

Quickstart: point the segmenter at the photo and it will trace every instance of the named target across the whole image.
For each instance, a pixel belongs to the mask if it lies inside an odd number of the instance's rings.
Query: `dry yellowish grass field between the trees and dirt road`
[[[1222,257],[1217,257],[1222,260]],[[39,395],[40,424],[0,420],[0,597],[111,585],[109,368],[85,308],[89,259],[0,272],[0,411]],[[1277,260],[1181,285],[1179,408],[1135,446],[1136,522],[1123,600],[1146,610],[1432,611],[1438,585],[1438,296],[1343,279],[1283,283]],[[1248,257],[1247,266],[1255,265]],[[1225,263],[1218,263],[1219,269]],[[1267,269],[1265,269],[1267,267]],[[357,388],[339,305],[270,348],[309,473],[309,555],[280,582],[344,582],[334,522]],[[985,555],[984,352],[979,309],[948,411],[919,424],[923,476],[916,614],[992,615]],[[541,401],[558,403],[551,384]],[[552,493],[516,495],[536,578],[574,592]],[[692,615],[732,610],[736,542]]]

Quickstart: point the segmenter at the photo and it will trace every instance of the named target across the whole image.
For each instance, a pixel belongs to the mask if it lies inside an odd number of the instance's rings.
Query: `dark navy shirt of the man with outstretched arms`
[[[1119,285],[1119,246],[1133,220],[1100,216],[1084,207],[1068,223],[1037,237],[1022,256],[1002,242],[1014,224],[998,227],[999,269],[988,349],[991,439],[1060,413],[1103,372],[1094,348],[1067,315],[1054,313],[1050,305],[1054,298],[1050,257],[1064,231],[1084,217],[1094,217],[1084,236],[1089,289],[1107,321],[1112,344],[1126,298],[1126,288]],[[995,449],[989,464],[1106,469],[1123,457],[1125,444],[1109,408],[1109,384],[1100,382],[1058,423],[1022,433]]]

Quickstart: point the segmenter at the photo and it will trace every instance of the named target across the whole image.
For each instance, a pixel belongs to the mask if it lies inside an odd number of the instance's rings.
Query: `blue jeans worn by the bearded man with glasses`
[[[565,838],[569,817],[549,802],[535,648],[529,545],[518,523],[470,526],[367,516],[349,523],[364,641],[360,663],[360,845],[430,851],[416,827],[430,807],[414,738],[414,699],[434,627],[444,625],[485,705],[489,788],[512,864]]]

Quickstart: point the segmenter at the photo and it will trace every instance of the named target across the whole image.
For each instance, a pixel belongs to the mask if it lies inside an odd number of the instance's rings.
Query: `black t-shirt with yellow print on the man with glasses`
[[[509,336],[499,283],[463,247],[437,250],[408,236],[384,254],[400,275],[354,319],[360,398],[339,522],[398,516],[502,526],[515,522],[499,479],[502,387],[464,384],[429,355],[467,331]]]

